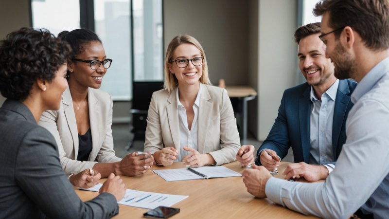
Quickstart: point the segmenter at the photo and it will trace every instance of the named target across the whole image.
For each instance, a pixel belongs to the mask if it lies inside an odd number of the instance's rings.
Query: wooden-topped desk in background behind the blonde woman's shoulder
[[[228,86],[226,87],[230,98],[237,98],[242,103],[242,142],[241,145],[246,145],[247,141],[247,102],[255,99],[257,91],[248,86]]]

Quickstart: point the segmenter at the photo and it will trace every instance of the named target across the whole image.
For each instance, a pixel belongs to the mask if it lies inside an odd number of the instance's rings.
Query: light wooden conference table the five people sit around
[[[281,162],[280,173],[287,164]],[[242,173],[239,162],[225,164],[226,167]],[[182,163],[175,163],[172,166],[153,166],[152,169],[183,168]],[[282,174],[275,177],[283,178]],[[136,177],[122,177],[127,188],[167,193],[173,195],[189,195],[188,198],[178,202],[172,207],[180,208],[180,213],[171,217],[180,218],[203,218],[203,219],[226,219],[226,218],[256,218],[256,219],[308,219],[316,218],[305,216],[295,211],[284,208],[267,199],[257,199],[247,192],[242,177],[215,178],[208,180],[190,180],[166,182],[153,171]],[[106,179],[100,180],[103,183]],[[93,199],[97,192],[76,190],[76,193],[83,201]],[[129,207],[119,204],[119,215],[115,219],[143,218],[143,213],[148,209]]]

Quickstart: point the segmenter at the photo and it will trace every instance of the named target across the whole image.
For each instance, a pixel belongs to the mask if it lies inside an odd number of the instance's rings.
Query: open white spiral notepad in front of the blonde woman
[[[202,166],[179,169],[153,170],[167,182],[182,180],[200,180],[209,178],[242,176],[225,166]]]

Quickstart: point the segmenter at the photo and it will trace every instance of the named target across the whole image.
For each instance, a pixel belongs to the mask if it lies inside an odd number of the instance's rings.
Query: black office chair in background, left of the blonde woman
[[[129,150],[136,140],[144,140],[147,127],[147,111],[149,109],[151,96],[154,91],[159,91],[163,88],[163,81],[133,81],[132,82],[132,107],[130,115],[132,115],[132,130],[134,138],[130,141],[126,150]]]

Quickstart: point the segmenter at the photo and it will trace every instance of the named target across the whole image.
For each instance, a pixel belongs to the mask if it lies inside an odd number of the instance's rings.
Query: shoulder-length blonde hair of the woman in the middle
[[[200,55],[204,57],[203,61],[203,73],[199,79],[199,81],[202,84],[209,84],[211,85],[210,79],[208,77],[208,65],[207,65],[207,58],[205,57],[205,53],[203,50],[203,47],[201,44],[195,39],[195,37],[189,36],[189,35],[179,35],[177,37],[174,37],[166,50],[166,56],[165,56],[165,67],[164,67],[164,74],[165,74],[165,81],[164,81],[164,89],[167,90],[169,93],[173,91],[178,86],[178,80],[175,74],[171,73],[169,70],[169,63],[172,63],[173,61],[173,53],[176,50],[176,48],[183,44],[183,43],[190,43],[194,45],[199,51]]]

